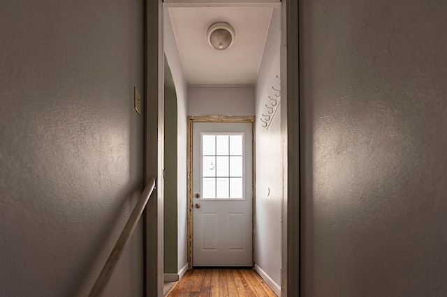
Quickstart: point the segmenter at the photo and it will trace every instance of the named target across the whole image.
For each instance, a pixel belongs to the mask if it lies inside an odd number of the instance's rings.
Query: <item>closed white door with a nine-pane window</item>
[[[252,266],[252,123],[193,123],[193,266]]]

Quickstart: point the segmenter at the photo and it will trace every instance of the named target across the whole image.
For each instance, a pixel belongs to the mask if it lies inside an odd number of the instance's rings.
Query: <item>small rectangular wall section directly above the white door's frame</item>
[[[188,115],[253,116],[253,86],[190,86]]]

